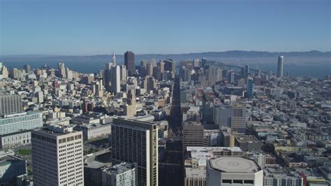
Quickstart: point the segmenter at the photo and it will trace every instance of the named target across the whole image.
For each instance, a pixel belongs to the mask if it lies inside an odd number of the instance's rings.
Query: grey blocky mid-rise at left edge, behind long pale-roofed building
[[[19,95],[0,95],[0,115],[20,113],[23,111]]]

